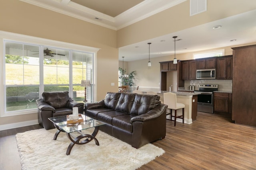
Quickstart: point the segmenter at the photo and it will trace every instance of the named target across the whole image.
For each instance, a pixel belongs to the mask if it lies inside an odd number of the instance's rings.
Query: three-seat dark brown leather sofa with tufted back
[[[86,103],[85,115],[105,122],[100,130],[135,148],[164,139],[166,108],[160,96],[108,92],[98,103]]]

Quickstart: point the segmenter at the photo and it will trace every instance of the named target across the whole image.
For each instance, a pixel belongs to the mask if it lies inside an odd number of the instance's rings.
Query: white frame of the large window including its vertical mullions
[[[93,77],[92,77],[92,93],[94,98],[96,97],[96,93],[94,90],[96,88],[96,58],[97,58],[97,52],[100,50],[99,48],[94,48],[94,47],[88,47],[84,45],[76,45],[72,43],[65,43],[61,41],[54,41],[54,40],[49,40],[49,39],[43,39],[43,38],[38,38],[38,37],[33,37],[33,36],[28,36],[28,35],[21,35],[21,34],[16,34],[16,33],[10,33],[6,31],[0,31],[0,66],[2,69],[0,69],[0,75],[2,79],[0,79],[0,93],[4,94],[0,96],[0,117],[8,117],[8,116],[15,116],[15,115],[24,115],[24,114],[31,114],[31,113],[37,113],[37,109],[25,109],[25,110],[20,110],[20,111],[14,111],[14,112],[6,112],[5,106],[6,106],[6,83],[5,83],[5,46],[4,46],[4,41],[11,41],[11,42],[17,42],[17,43],[24,43],[24,44],[29,44],[29,45],[39,45],[39,46],[50,46],[50,47],[55,47],[55,48],[60,48],[60,49],[68,49],[72,51],[82,51],[85,53],[92,53],[93,54],[93,61],[92,61],[92,67],[93,67]],[[39,49],[41,52],[43,52],[42,48]],[[70,72],[72,72],[72,56],[70,55],[70,65],[69,69]],[[43,57],[40,57],[40,63],[43,63]],[[43,74],[43,64],[40,64],[40,75]],[[41,82],[43,82],[43,76],[40,76],[40,94],[42,94],[42,86]],[[72,97],[72,74],[70,74],[70,96]],[[71,89],[71,90],[70,90]],[[40,95],[41,98],[41,95]]]

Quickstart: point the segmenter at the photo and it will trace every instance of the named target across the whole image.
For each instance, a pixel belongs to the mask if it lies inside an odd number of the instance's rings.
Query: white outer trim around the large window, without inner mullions
[[[3,41],[20,41],[24,43],[30,43],[30,44],[38,44],[38,45],[49,45],[53,47],[60,47],[64,49],[72,49],[77,51],[88,51],[90,53],[94,53],[94,68],[96,68],[96,59],[97,59],[97,52],[100,50],[100,48],[95,47],[88,47],[84,45],[77,45],[72,43],[65,43],[61,41],[54,41],[50,39],[44,39],[39,37],[33,37],[29,35],[22,35],[18,33],[10,33],[6,31],[0,31],[0,94],[4,94],[4,88],[5,88],[5,82],[4,82],[4,63],[3,63],[3,57],[4,57],[4,49],[3,49]],[[97,89],[97,82],[96,82],[97,72],[95,69],[94,72],[94,89]],[[96,97],[96,90],[93,90],[94,96]],[[37,113],[37,109],[31,109],[31,110],[25,110],[25,111],[16,111],[15,113],[5,113],[4,109],[4,99],[5,95],[0,95],[0,117],[8,117],[8,116],[15,116],[15,115],[25,115],[25,114],[31,114],[31,113]],[[96,99],[95,99],[96,100]]]

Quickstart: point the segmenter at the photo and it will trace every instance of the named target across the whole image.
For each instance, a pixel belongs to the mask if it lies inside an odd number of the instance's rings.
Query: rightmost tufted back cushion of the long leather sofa
[[[130,114],[142,115],[160,104],[160,96],[136,94]]]

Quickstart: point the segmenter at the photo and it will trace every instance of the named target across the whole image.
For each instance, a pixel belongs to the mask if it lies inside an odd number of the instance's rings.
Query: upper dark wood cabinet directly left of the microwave
[[[196,80],[196,60],[182,61],[182,80]]]

